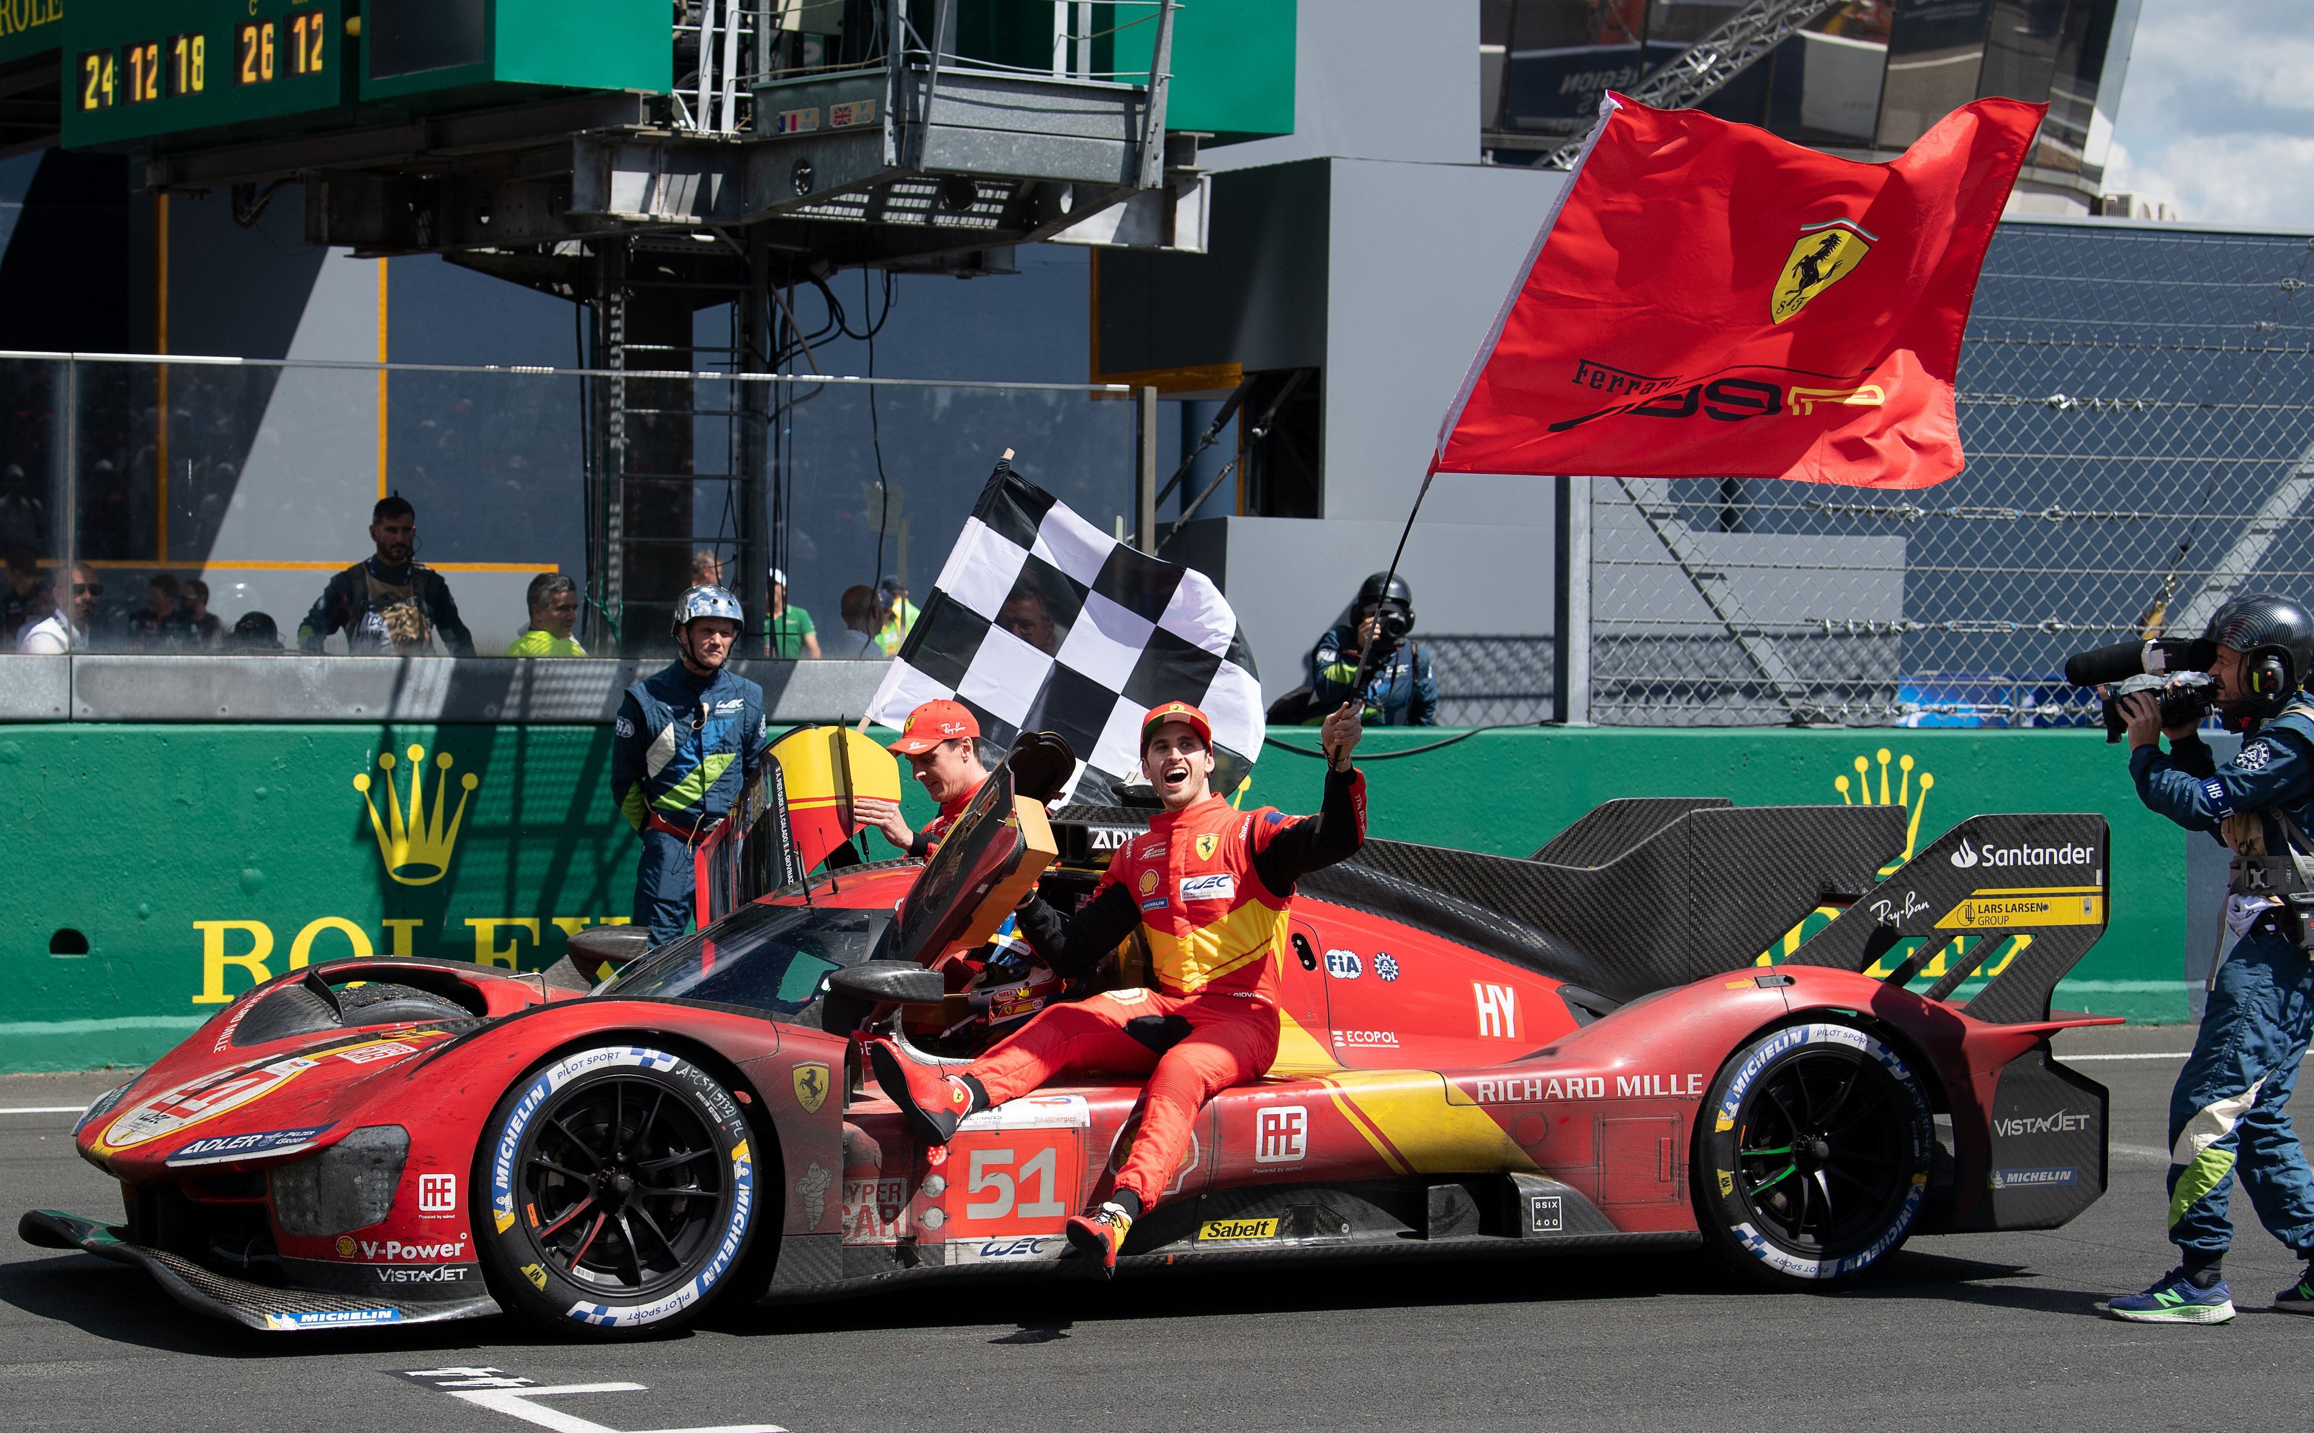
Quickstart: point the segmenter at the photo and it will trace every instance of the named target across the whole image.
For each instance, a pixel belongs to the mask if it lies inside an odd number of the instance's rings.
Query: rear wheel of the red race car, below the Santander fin
[[[1886,1042],[1842,1021],[1770,1030],[1696,1116],[1696,1225],[1770,1287],[1849,1283],[1904,1243],[1935,1141],[1928,1090]]]

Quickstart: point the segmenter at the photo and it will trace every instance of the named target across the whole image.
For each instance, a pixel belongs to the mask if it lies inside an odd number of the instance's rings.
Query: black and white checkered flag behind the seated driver
[[[868,715],[886,727],[939,697],[981,736],[1057,732],[1076,750],[1062,799],[1113,801],[1141,771],[1141,718],[1192,701],[1213,718],[1217,792],[1261,752],[1261,678],[1238,613],[1203,572],[1138,553],[997,461]]]

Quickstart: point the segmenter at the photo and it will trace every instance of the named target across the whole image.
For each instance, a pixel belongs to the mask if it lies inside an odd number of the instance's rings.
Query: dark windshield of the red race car
[[[715,1000],[812,1023],[828,972],[875,956],[889,933],[889,910],[747,905],[653,951],[602,993]]]

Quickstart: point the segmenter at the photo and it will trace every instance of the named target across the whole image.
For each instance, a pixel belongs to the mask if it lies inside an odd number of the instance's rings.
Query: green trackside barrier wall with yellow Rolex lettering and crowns
[[[1317,743],[1314,729],[1277,736]],[[1372,732],[1361,755],[1437,738]],[[609,762],[609,727],[576,725],[7,727],[0,1070],[148,1063],[305,961],[551,965],[567,931],[622,919],[634,891]],[[1886,782],[1923,845],[1985,810],[2101,810],[2113,926],[2059,1005],[2187,1019],[2184,833],[2136,803],[2122,750],[2096,732],[1523,727],[1368,762],[1377,836],[1518,857],[1613,796],[1842,801],[1842,778],[1851,801],[1881,801]],[[1312,810],[1317,796],[1319,762],[1270,745],[1240,801]],[[930,817],[914,782],[907,810]]]

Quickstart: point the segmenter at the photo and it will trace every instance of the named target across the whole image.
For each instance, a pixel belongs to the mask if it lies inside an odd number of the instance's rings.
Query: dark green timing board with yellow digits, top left
[[[280,120],[352,100],[345,0],[74,2],[60,49],[67,146]]]

